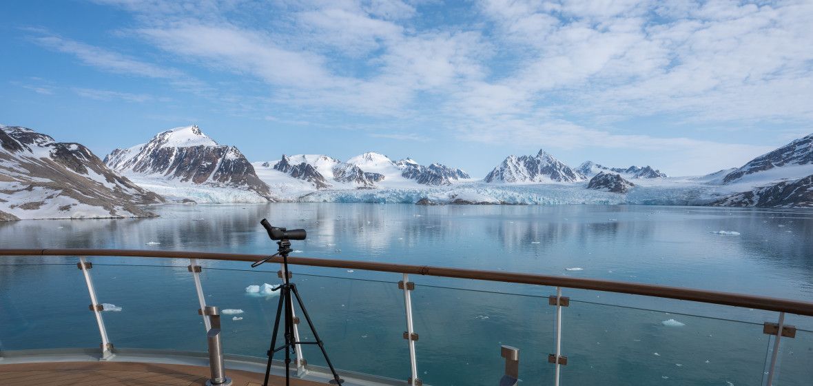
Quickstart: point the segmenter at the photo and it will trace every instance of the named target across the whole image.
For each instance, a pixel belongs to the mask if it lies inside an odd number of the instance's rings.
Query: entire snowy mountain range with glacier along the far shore
[[[237,147],[218,144],[198,126],[159,132],[103,161],[80,144],[28,128],[0,128],[0,220],[150,216],[142,206],[163,202],[813,206],[813,135],[742,167],[699,177],[591,161],[573,168],[540,150],[511,155],[483,180],[473,180],[456,167],[373,152],[344,162],[284,154],[250,163]]]

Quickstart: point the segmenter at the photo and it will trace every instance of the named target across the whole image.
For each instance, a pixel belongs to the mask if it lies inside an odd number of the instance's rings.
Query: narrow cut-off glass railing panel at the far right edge
[[[795,337],[782,336],[779,343],[773,386],[813,384],[813,332],[797,329]],[[772,349],[773,345],[767,354],[768,361]]]

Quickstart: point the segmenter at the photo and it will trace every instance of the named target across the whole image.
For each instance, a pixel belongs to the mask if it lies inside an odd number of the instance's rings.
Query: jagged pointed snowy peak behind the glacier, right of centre
[[[587,180],[579,171],[573,170],[545,150],[537,155],[511,155],[485,176],[485,182],[533,183],[578,182]]]

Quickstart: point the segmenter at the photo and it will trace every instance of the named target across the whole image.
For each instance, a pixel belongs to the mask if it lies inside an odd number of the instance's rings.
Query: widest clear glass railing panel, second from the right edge
[[[562,384],[759,385],[770,344],[759,323],[571,299]]]

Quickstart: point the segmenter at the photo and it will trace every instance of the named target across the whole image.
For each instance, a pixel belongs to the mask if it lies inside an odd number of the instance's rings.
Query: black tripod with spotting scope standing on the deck
[[[276,245],[279,245],[279,249],[277,249],[277,253],[265,258],[263,260],[259,260],[251,264],[251,267],[257,267],[263,262],[267,262],[276,256],[282,256],[282,282],[279,287],[275,289],[280,290],[280,302],[276,306],[276,318],[274,319],[274,331],[272,332],[271,336],[271,347],[268,349],[268,364],[265,367],[265,382],[263,382],[263,386],[268,386],[268,376],[271,374],[271,362],[274,358],[274,353],[280,350],[285,350],[285,386],[289,386],[290,383],[290,365],[291,365],[291,353],[296,353],[297,345],[319,345],[319,348],[322,350],[322,355],[324,355],[325,362],[328,362],[328,367],[330,367],[330,372],[333,374],[333,379],[330,380],[330,384],[341,384],[344,382],[344,379],[340,379],[339,375],[336,374],[336,370],[333,369],[333,364],[330,362],[330,358],[328,358],[328,352],[324,350],[324,343],[319,337],[319,334],[316,333],[316,328],[313,327],[313,323],[311,322],[311,317],[307,314],[307,310],[305,309],[305,305],[302,303],[302,297],[299,297],[299,292],[297,291],[296,284],[293,284],[289,280],[289,273],[288,273],[288,254],[293,251],[291,249],[291,242],[288,238],[288,232],[286,232],[285,228],[273,228],[266,219],[263,219],[261,222],[263,226],[268,231],[268,235],[271,236],[272,240],[279,240],[276,242]],[[281,232],[280,232],[281,231]],[[298,230],[289,231],[292,232],[291,234]],[[305,238],[305,231],[302,230],[301,234],[302,238],[298,238],[299,240],[303,240]],[[307,320],[308,327],[311,327],[311,332],[315,338],[315,342],[302,342],[294,340],[293,335],[293,301],[291,300],[291,293],[293,296],[297,298],[297,303],[299,304],[299,308],[302,310],[302,315],[305,316],[305,320]],[[276,347],[276,335],[280,330],[280,316],[282,315],[283,307],[285,307],[285,345],[281,345],[280,347]]]

